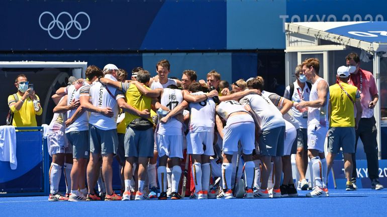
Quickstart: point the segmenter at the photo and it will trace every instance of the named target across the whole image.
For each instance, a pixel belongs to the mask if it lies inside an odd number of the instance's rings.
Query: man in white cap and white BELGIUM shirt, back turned
[[[108,64],[104,68],[105,78],[117,81],[119,70],[117,66]],[[96,174],[99,174],[100,157],[102,155],[102,177],[106,185],[105,200],[121,200],[121,196],[113,191],[113,154],[117,153],[117,116],[118,105],[116,98],[111,96],[116,89],[107,87],[101,82],[91,85],[89,92],[80,94],[80,104],[90,112],[89,137],[90,160],[87,164],[88,194],[86,200],[100,200],[94,192]],[[113,95],[113,94],[112,94]],[[91,100],[91,103],[90,101]]]

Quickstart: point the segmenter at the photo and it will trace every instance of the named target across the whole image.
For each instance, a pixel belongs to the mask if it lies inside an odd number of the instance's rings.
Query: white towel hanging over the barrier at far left
[[[11,169],[16,169],[16,131],[14,126],[0,126],[0,160],[9,161]]]

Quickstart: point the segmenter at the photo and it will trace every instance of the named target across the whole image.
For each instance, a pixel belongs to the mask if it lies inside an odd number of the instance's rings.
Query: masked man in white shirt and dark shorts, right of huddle
[[[301,100],[309,101],[312,84],[307,82],[307,77],[303,73],[301,65],[296,67],[295,75],[297,78],[296,81],[286,87],[283,98],[293,102],[301,102]],[[293,113],[294,119],[300,125],[300,128],[297,129],[296,165],[300,173],[300,180],[297,189],[307,190],[309,184],[305,179],[305,173],[308,167],[308,110],[300,112],[296,107],[292,107],[289,113]]]

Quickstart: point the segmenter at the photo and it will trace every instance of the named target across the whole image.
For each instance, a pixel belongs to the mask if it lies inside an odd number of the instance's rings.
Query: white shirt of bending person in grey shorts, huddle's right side
[[[280,126],[285,126],[281,112],[275,107],[267,96],[249,94],[244,96],[240,102],[250,105],[251,109],[258,115],[259,126],[262,130],[269,130]]]

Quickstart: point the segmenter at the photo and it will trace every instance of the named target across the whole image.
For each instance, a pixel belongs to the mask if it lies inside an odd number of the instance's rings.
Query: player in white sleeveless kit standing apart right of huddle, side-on
[[[303,73],[312,82],[310,101],[295,103],[297,109],[308,107],[308,155],[312,161],[315,189],[307,193],[308,197],[328,196],[326,188],[327,160],[324,154],[324,142],[328,132],[328,82],[319,76],[320,61],[309,58],[302,63]]]

